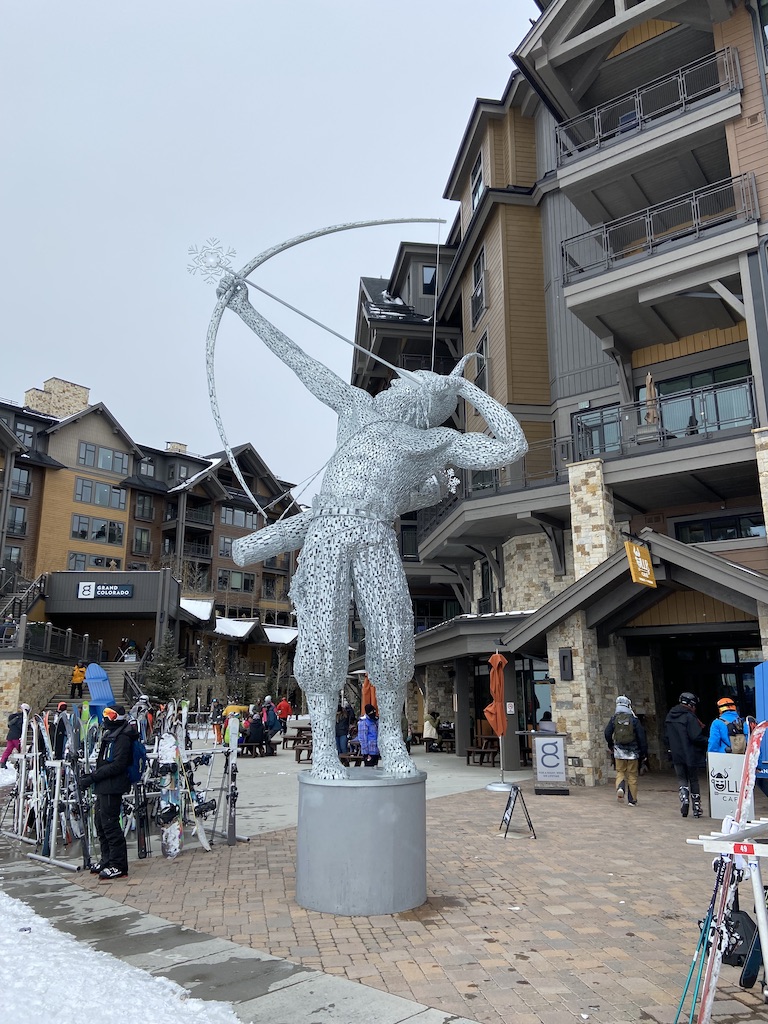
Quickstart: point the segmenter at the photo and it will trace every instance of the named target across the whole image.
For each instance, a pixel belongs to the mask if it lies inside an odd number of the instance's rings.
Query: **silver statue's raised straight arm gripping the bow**
[[[348,408],[350,396],[355,390],[351,384],[345,383],[341,377],[330,370],[325,362],[313,359],[300,348],[295,341],[279,331],[273,324],[254,309],[248,301],[248,288],[245,284],[234,286],[233,279],[226,274],[219,285],[218,293],[224,294],[232,289],[227,305],[240,316],[244,324],[258,335],[270,351],[274,352],[287,367],[299,378],[304,387],[319,398],[326,406],[340,413]]]

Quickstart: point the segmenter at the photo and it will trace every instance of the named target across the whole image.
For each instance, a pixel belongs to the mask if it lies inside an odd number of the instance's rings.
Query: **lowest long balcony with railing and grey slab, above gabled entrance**
[[[519,462],[462,472],[455,495],[419,511],[421,553],[439,562],[462,530],[511,536],[537,513],[567,523],[568,464],[587,459],[605,462],[606,482],[635,511],[759,494],[756,426],[752,377],[580,413],[571,435],[532,443]]]

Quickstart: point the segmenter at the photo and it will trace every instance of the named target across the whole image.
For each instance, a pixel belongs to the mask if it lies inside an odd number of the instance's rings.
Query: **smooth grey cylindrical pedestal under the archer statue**
[[[427,898],[426,772],[299,775],[296,902],[345,916],[399,913]]]

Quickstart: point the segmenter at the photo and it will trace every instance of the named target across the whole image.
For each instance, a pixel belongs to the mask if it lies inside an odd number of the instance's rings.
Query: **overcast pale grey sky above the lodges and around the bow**
[[[137,443],[220,449],[205,376],[215,289],[188,273],[189,246],[217,238],[240,267],[329,224],[450,224],[441,197],[473,102],[501,97],[537,14],[532,0],[5,4],[0,396],[63,377]],[[359,278],[387,276],[400,240],[436,243],[437,227],[321,239],[257,279],[351,337]],[[251,297],[348,379],[351,349]],[[229,441],[299,482],[333,451],[335,417],[225,319]]]

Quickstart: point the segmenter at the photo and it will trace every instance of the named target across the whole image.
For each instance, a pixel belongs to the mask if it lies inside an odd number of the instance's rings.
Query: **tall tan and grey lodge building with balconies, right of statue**
[[[403,524],[415,599],[461,612],[418,633],[422,691],[461,753],[502,650],[507,764],[526,750],[514,727],[551,710],[572,780],[594,784],[616,694],[660,759],[682,690],[708,720],[724,693],[755,714],[768,658],[768,6],[540,6],[502,98],[472,111],[439,268],[403,245],[388,281],[364,279],[357,341],[435,369],[479,352],[529,442]],[[382,323],[377,292],[428,314],[428,269],[434,334]],[[357,359],[353,379],[379,374]],[[484,424],[468,410],[466,427]],[[632,582],[629,537],[655,587]]]

